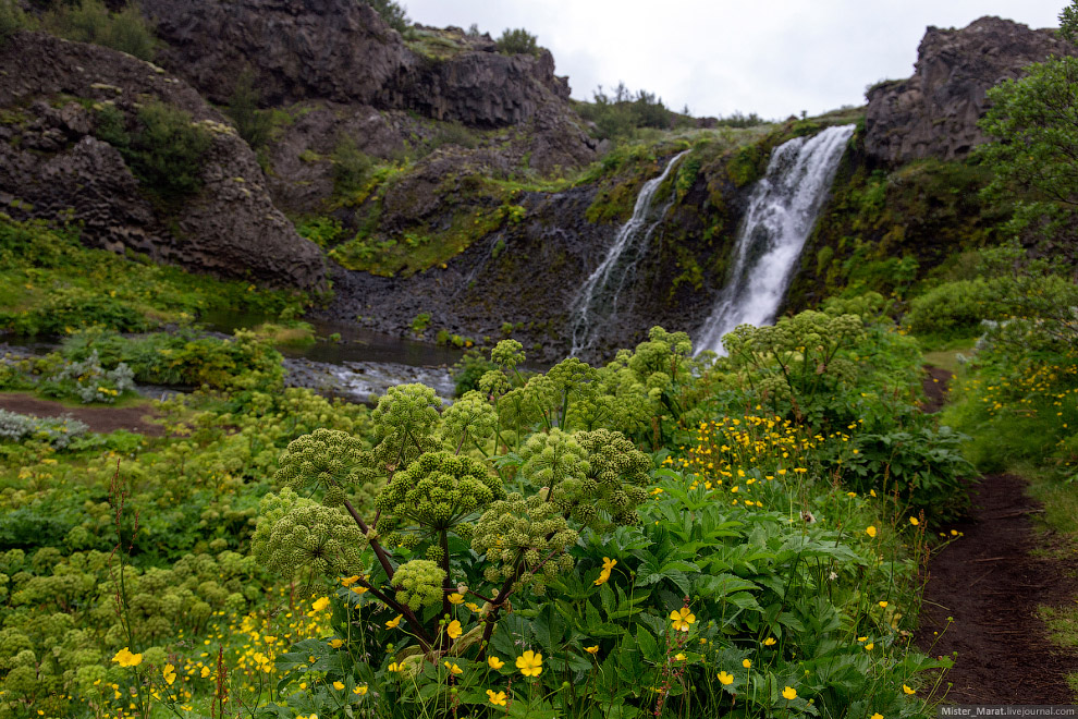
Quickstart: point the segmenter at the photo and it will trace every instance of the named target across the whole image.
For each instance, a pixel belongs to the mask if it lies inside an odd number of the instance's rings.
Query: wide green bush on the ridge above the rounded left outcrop
[[[137,4],[110,12],[101,0],[81,0],[50,10],[45,27],[69,40],[101,45],[142,60],[152,60],[157,53],[154,29]]]

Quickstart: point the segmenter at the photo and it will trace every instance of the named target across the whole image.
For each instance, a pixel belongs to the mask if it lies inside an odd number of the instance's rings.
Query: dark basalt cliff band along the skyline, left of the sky
[[[456,50],[424,57],[357,0],[140,1],[167,44],[164,66],[218,103],[245,68],[267,105],[368,105],[476,127],[518,124],[568,100],[549,52],[506,57],[489,38],[449,28]]]

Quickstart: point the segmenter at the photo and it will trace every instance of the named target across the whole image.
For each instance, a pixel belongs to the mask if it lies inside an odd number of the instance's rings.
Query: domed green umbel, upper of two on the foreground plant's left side
[[[378,478],[375,456],[355,437],[335,429],[316,429],[289,443],[275,479],[294,489],[354,488]],[[340,493],[340,491],[334,492]],[[343,499],[343,495],[341,497]],[[332,502],[330,492],[327,503]]]

